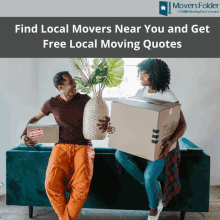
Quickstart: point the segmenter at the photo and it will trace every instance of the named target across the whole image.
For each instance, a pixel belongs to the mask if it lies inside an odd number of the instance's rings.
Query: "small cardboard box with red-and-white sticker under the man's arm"
[[[57,143],[59,141],[59,125],[29,124],[27,136],[38,143]]]

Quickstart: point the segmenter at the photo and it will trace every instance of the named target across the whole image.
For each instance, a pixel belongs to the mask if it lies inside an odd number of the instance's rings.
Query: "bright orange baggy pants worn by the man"
[[[89,192],[95,151],[85,145],[57,144],[46,171],[47,196],[60,220],[75,220]],[[70,192],[67,201],[65,191]]]

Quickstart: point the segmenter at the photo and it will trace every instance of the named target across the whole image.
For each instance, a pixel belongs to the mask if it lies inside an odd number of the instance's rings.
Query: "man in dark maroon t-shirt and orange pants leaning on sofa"
[[[53,83],[60,94],[47,100],[28,123],[36,123],[52,113],[59,125],[59,142],[49,158],[45,189],[59,219],[75,220],[86,201],[93,175],[95,152],[82,130],[83,111],[90,97],[76,92],[69,72],[57,73]],[[27,128],[22,140],[25,145],[37,143],[27,137]],[[70,192],[68,202],[66,190]]]

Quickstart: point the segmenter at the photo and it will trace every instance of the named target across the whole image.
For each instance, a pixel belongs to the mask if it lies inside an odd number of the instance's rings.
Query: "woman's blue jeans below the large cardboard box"
[[[130,175],[132,175],[142,185],[145,185],[150,208],[157,208],[160,192],[160,182],[157,178],[164,170],[165,159],[150,161],[143,173],[134,160],[134,157],[136,156],[117,150],[115,157]]]

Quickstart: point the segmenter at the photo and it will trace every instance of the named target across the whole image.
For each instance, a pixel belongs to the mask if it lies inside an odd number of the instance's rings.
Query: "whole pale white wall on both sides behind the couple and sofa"
[[[171,69],[171,90],[182,104],[188,129],[185,137],[211,156],[211,185],[220,184],[220,69],[219,59],[164,58]],[[0,181],[5,183],[5,152],[20,143],[27,121],[42,104],[59,91],[53,76],[70,71],[64,58],[0,59],[1,153]],[[136,72],[134,73],[136,74]],[[141,86],[140,86],[141,87]],[[138,88],[137,88],[138,89]],[[54,122],[53,116],[42,123]],[[96,141],[96,146],[108,146],[108,138]]]

